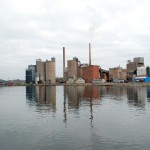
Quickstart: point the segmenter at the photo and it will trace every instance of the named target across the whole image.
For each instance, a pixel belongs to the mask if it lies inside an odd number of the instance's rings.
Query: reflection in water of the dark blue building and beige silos
[[[26,98],[29,105],[36,102],[38,110],[56,111],[56,87],[55,86],[29,86],[26,87]]]

